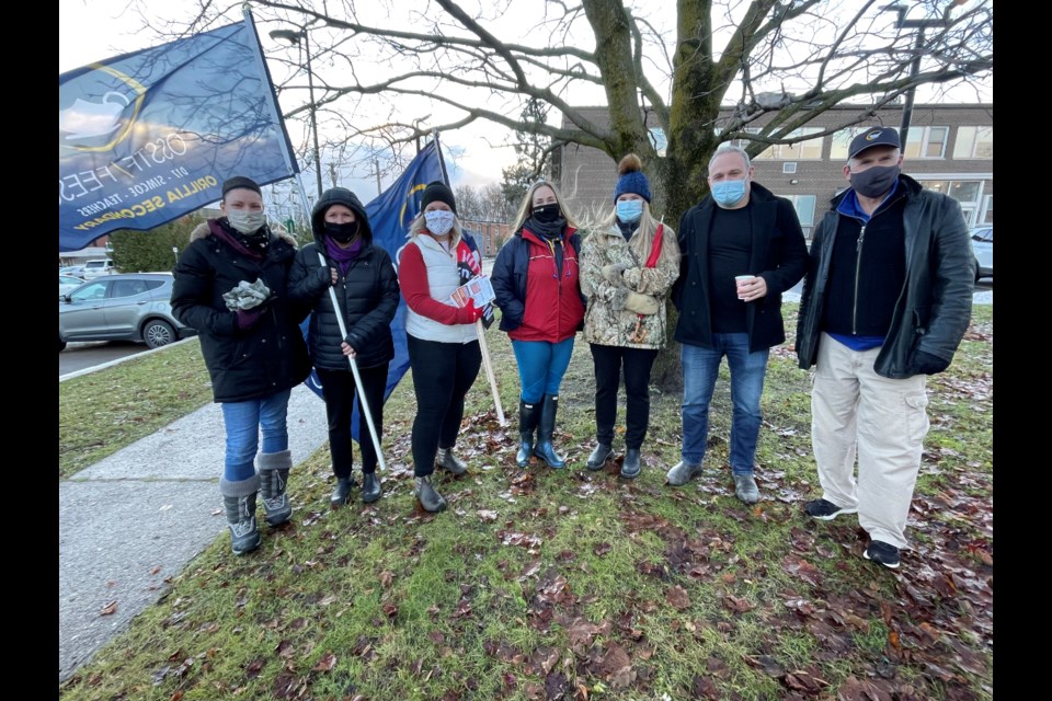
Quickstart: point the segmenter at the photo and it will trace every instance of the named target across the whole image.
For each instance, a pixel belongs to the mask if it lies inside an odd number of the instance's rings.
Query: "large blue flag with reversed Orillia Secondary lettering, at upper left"
[[[251,18],[58,77],[58,250],[298,172]]]

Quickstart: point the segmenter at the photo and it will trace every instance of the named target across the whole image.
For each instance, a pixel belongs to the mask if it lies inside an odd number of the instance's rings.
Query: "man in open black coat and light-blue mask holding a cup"
[[[753,182],[743,149],[721,145],[709,161],[708,180],[710,194],[679,220],[682,258],[672,301],[679,310],[676,341],[683,344],[683,449],[667,481],[679,486],[701,471],[709,402],[727,357],[734,494],[755,504],[753,463],[767,357],[786,340],[781,294],[803,277],[808,246],[792,203]]]

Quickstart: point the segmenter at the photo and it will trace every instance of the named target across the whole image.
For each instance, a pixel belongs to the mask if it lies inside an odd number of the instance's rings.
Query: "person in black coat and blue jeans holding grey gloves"
[[[262,191],[248,177],[222,184],[219,208],[224,216],[197,227],[179,256],[172,313],[197,330],[213,397],[222,406],[227,445],[219,492],[230,545],[240,555],[260,545],[259,492],[271,526],[293,514],[285,491],[293,467],[288,398],[310,375],[310,358],[299,331],[306,309],[291,303],[286,291],[295,241],[271,232]],[[241,290],[250,284],[266,287],[262,303]]]

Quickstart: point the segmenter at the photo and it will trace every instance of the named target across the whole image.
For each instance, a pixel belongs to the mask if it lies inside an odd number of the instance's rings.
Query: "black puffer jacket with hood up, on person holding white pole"
[[[343,315],[347,335],[340,333],[340,324],[329,294],[329,268],[340,271],[340,265],[328,260],[324,244],[324,212],[334,204],[354,211],[358,221],[363,248],[351,263],[346,275],[339,274],[333,286],[336,301]],[[391,320],[400,301],[398,275],[391,257],[384,249],[373,245],[373,230],[365,208],[348,189],[334,187],[325,191],[315,205],[311,216],[315,242],[308,243],[296,254],[289,273],[289,294],[297,302],[312,311],[309,323],[308,345],[315,367],[325,370],[347,370],[346,356],[340,344],[346,341],[356,354],[359,368],[371,368],[388,363],[395,357],[395,341],[391,336]],[[327,262],[318,258],[321,252]]]

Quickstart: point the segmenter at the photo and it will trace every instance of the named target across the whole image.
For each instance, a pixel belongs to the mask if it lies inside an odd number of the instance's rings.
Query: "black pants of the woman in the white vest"
[[[482,365],[479,342],[441,343],[407,335],[413,369],[416,418],[413,420],[413,473],[435,471],[438,448],[453,448],[464,418],[464,398]]]

